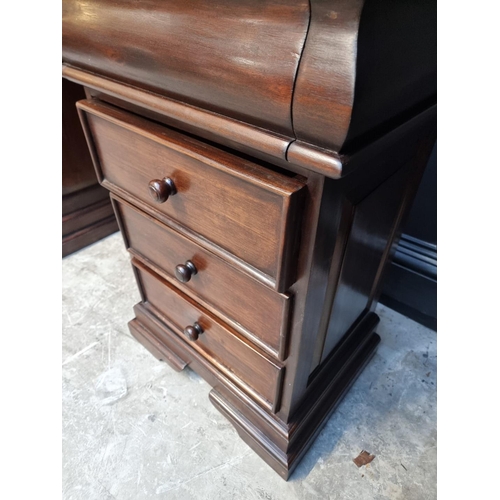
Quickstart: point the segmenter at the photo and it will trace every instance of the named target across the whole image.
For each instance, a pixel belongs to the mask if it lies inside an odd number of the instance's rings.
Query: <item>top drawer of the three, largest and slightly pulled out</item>
[[[179,222],[278,291],[293,283],[302,178],[112,106],[94,101],[77,106],[101,184],[164,222]],[[155,200],[152,182],[162,181],[160,190],[168,193],[167,178],[175,194]],[[158,185],[155,189],[157,195]]]

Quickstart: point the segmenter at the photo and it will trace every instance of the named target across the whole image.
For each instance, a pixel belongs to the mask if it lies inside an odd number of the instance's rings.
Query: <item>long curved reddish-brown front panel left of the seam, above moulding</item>
[[[278,132],[291,132],[306,0],[63,2],[63,60]]]

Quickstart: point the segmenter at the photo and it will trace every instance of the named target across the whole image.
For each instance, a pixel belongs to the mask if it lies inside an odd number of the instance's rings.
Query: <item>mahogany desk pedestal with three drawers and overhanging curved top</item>
[[[63,76],[142,301],[288,478],[380,338],[381,279],[436,137],[431,0],[65,0]]]

